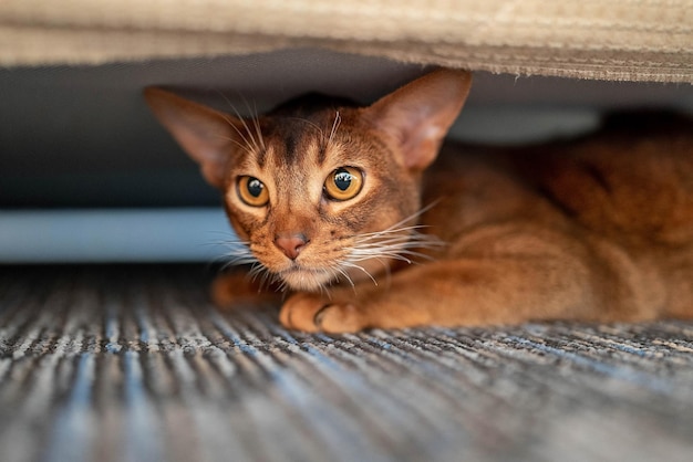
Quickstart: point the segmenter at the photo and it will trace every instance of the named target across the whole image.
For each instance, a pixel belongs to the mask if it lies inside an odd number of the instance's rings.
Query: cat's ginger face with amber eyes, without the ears
[[[354,108],[258,120],[229,159],[224,199],[257,261],[293,290],[385,271],[418,210],[418,172],[393,156]],[[261,136],[261,137],[260,137]]]

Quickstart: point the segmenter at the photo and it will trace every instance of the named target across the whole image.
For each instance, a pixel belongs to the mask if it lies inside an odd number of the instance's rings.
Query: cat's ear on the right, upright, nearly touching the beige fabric
[[[467,71],[437,70],[379,99],[364,115],[399,144],[406,167],[422,170],[437,156],[470,85]]]

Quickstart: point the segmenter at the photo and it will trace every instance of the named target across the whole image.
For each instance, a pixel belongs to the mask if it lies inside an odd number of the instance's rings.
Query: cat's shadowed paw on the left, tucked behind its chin
[[[279,303],[281,293],[267,287],[245,271],[232,271],[218,275],[210,287],[211,301],[223,309]]]

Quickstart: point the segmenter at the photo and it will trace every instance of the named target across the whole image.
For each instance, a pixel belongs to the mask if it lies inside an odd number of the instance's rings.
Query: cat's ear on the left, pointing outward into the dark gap
[[[223,188],[226,162],[237,149],[242,122],[157,87],[146,88],[144,97],[158,122],[199,164],[205,179]]]

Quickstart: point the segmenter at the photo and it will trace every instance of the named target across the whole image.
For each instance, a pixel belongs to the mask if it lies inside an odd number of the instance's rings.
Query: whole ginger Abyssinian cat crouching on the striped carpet
[[[693,316],[693,124],[571,141],[443,144],[470,86],[437,70],[366,107],[306,96],[240,119],[158,88],[159,122],[219,188],[251,276],[308,332]],[[661,118],[661,117],[660,117]]]

